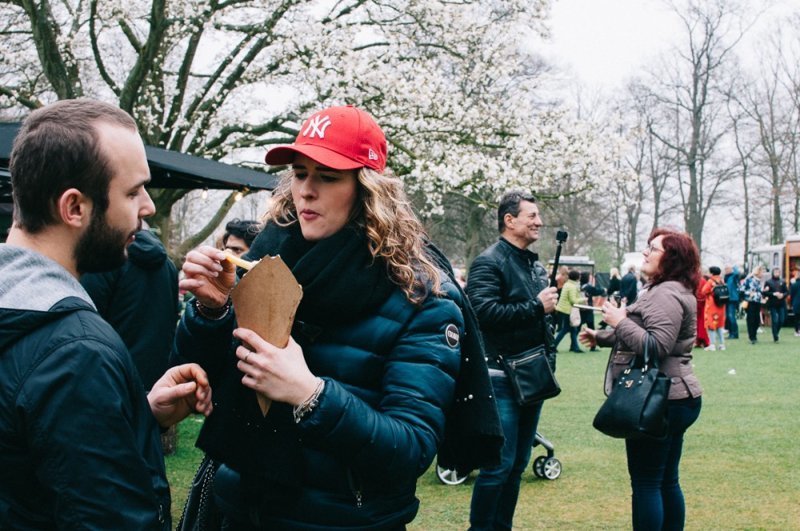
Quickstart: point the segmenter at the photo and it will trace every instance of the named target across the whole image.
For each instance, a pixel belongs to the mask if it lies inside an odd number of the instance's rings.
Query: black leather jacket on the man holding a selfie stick
[[[544,343],[547,325],[537,295],[547,285],[539,256],[504,238],[472,262],[467,295],[478,316],[490,368],[500,368],[497,356]]]

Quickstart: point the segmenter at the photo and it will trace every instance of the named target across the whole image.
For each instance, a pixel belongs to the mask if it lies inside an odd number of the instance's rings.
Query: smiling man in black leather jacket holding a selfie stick
[[[528,249],[539,239],[542,223],[532,194],[506,192],[497,207],[500,239],[472,262],[469,271],[467,294],[486,344],[505,434],[500,465],[482,468],[472,489],[469,521],[474,531],[512,528],[542,411],[541,402],[517,404],[499,361],[500,356],[544,344],[550,333],[545,316],[555,308],[556,288],[548,287],[547,270],[539,255]]]

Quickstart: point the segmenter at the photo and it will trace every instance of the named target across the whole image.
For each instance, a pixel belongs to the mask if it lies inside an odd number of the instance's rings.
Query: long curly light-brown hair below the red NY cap
[[[272,192],[272,204],[264,221],[280,226],[297,223],[292,200],[294,171],[284,172]],[[388,169],[383,173],[361,168],[356,173],[358,200],[350,221],[366,231],[369,251],[386,262],[389,278],[420,304],[428,293],[440,295],[439,269],[425,251],[426,232],[411,209],[403,183]]]

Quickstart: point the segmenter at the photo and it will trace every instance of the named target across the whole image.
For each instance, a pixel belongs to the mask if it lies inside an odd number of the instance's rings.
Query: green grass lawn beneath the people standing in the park
[[[725,352],[695,350],[704,387],[700,419],[687,433],[681,464],[687,529],[800,529],[800,338],[784,328],[760,343],[727,342]],[[624,442],[592,428],[603,400],[608,349],[558,359],[563,392],[545,403],[539,429],[555,446],[561,477],[529,470],[517,505],[518,529],[629,528],[630,488]],[[193,447],[198,418],[180,426],[177,452],[167,457],[173,515],[180,515],[200,462]],[[543,454],[534,449],[534,456]],[[411,530],[466,529],[473,477],[444,486],[433,470],[418,482],[420,512]]]

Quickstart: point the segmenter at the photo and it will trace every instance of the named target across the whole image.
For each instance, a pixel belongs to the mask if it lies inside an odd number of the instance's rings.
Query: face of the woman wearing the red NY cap
[[[303,238],[317,241],[339,232],[358,198],[356,170],[327,168],[299,153],[292,169],[292,201]]]

